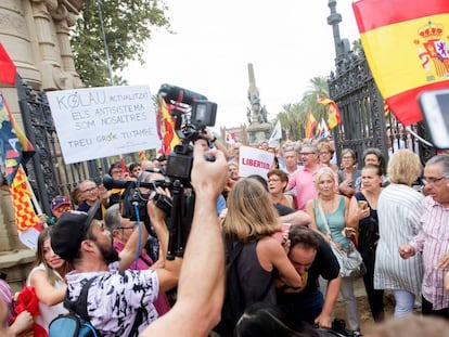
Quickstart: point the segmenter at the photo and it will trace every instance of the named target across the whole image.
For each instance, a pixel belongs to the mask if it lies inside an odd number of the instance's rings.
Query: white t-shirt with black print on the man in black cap
[[[69,299],[78,299],[82,285],[92,277],[97,280],[89,287],[87,311],[90,323],[102,336],[128,336],[138,309],[143,310],[139,332],[158,317],[153,306],[159,293],[154,270],[72,271],[66,275]]]

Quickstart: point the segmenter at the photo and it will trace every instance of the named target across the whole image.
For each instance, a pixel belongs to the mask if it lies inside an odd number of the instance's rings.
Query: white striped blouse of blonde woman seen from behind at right
[[[424,272],[421,254],[403,260],[398,248],[420,232],[423,198],[421,193],[402,184],[390,184],[382,191],[377,204],[380,239],[374,264],[375,289],[421,294]]]

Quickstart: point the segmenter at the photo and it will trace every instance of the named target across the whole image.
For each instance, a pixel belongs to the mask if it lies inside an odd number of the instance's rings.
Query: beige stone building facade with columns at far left
[[[84,0],[1,0],[0,42],[17,73],[35,90],[81,88],[69,43]],[[0,69],[1,70],[1,69]],[[15,87],[0,83],[0,90],[22,126]],[[0,190],[0,271],[18,289],[35,260],[17,237],[14,211],[8,190]]]

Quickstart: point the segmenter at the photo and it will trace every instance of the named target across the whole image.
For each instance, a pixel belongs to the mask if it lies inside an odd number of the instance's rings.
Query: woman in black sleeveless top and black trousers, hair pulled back
[[[384,312],[384,290],[374,289],[374,262],[379,242],[377,202],[383,190],[382,169],[367,165],[361,171],[363,187],[356,192],[349,205],[349,223],[359,229],[358,250],[363,258],[367,273],[363,275],[371,314],[375,322],[382,322]],[[369,209],[369,216],[365,209]]]

